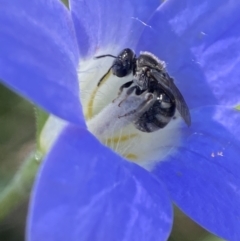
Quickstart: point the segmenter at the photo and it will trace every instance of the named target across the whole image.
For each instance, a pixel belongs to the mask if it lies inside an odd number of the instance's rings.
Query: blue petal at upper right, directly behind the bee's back
[[[240,102],[240,2],[166,1],[137,50],[167,62],[191,108]]]

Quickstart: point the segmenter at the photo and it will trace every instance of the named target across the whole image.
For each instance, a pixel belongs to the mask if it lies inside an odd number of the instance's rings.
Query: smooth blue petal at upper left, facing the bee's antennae
[[[83,122],[78,48],[65,6],[57,0],[0,5],[0,79],[47,111]]]

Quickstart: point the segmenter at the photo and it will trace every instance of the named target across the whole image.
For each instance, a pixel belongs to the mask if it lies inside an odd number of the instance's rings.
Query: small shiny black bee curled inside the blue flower
[[[133,80],[120,87],[119,95],[124,88],[128,88],[126,98],[133,91],[136,95],[145,98],[143,104],[135,110],[137,118],[133,124],[137,129],[153,132],[164,128],[174,118],[176,109],[185,123],[188,126],[191,125],[188,106],[173,79],[168,75],[163,61],[149,52],[141,52],[139,57],[136,57],[135,53],[128,48],[122,50],[118,56],[107,54],[96,58],[102,57],[113,57],[115,60],[99,80],[98,86],[110,71],[118,77],[125,77],[132,73]]]

